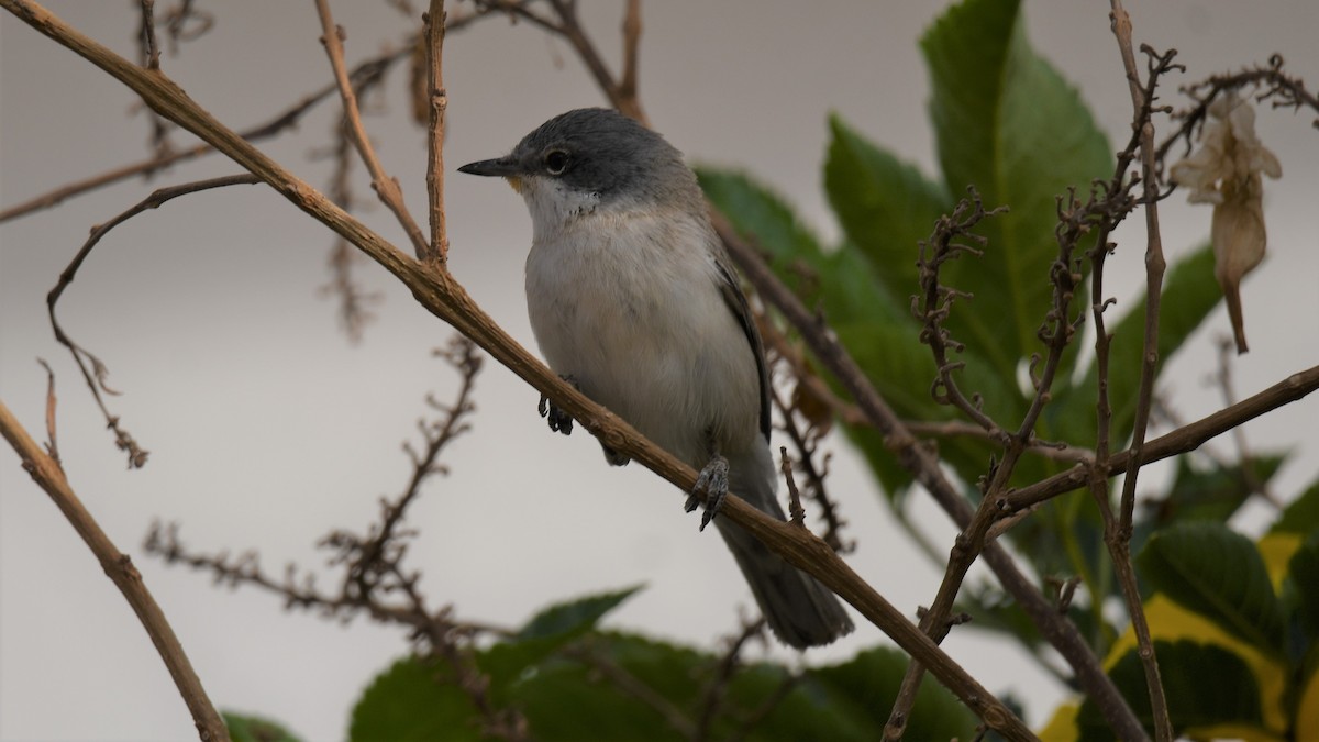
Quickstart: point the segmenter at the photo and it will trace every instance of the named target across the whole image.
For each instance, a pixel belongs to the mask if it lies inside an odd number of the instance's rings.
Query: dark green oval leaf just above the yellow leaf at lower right
[[[1141,574],[1182,607],[1277,656],[1283,618],[1260,551],[1217,523],[1177,524],[1154,533],[1138,557]]]

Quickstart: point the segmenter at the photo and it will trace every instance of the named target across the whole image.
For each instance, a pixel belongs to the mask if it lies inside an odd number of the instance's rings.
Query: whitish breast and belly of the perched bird
[[[677,211],[600,209],[538,227],[526,260],[550,367],[698,469],[707,430],[725,455],[764,446],[756,359],[720,293],[712,239]]]

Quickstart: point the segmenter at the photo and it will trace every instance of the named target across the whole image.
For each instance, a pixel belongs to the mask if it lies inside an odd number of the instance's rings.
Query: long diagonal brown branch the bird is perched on
[[[608,448],[629,454],[633,461],[662,475],[685,492],[695,485],[695,470],[566,384],[483,312],[452,276],[447,272],[426,268],[422,263],[413,260],[385,242],[351,214],[331,203],[307,182],[280,166],[239,137],[236,132],[219,123],[168,77],[144,73],[136,65],[78,33],[36,3],[0,0],[0,8],[9,11],[42,34],[74,50],[123,82],[162,116],[214,144],[235,162],[273,186],[294,206],[357,246],[394,275],[426,310],[475,341],[497,362],[550,397]],[[1010,709],[930,642],[926,635],[921,634],[897,609],[842,561],[827,544],[801,528],[793,528],[778,519],[769,518],[736,495],[728,496],[720,516],[741,525],[766,548],[818,578],[855,606],[863,617],[889,634],[904,650],[919,656],[933,675],[1005,737],[1009,739],[1034,738],[1030,729]]]

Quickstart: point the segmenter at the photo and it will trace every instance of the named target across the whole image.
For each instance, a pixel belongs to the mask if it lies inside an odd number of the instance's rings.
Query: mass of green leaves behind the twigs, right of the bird
[[[931,396],[936,370],[930,350],[919,342],[921,320],[911,310],[919,293],[915,261],[922,244],[935,220],[952,211],[968,186],[976,187],[987,209],[1009,206],[1009,211],[976,227],[987,238],[984,256],[964,255],[946,264],[940,281],[969,294],[952,305],[946,322],[951,337],[964,343],[955,358],[964,363],[958,383],[968,396],[977,393],[983,409],[1012,430],[1026,415],[1034,393],[1021,380],[1025,367],[1031,354],[1047,353],[1038,333],[1053,302],[1049,275],[1058,260],[1057,199],[1075,187],[1076,198],[1084,201],[1092,181],[1112,176],[1115,161],[1086,104],[1031,50],[1018,3],[962,3],[926,32],[921,49],[933,84],[930,115],[940,173],[925,176],[840,116],[832,116],[824,189],[843,227],[840,244],[826,246],[790,205],[745,173],[699,169],[698,174],[710,199],[764,251],[777,275],[807,306],[823,310],[876,389],[898,415],[918,421],[959,417]],[[1074,257],[1089,247],[1078,246]],[[1075,268],[1088,287],[1091,263],[1084,260]],[[1122,436],[1133,425],[1144,353],[1145,306],[1138,296],[1144,287],[1130,290],[1133,300],[1119,302],[1105,317],[1113,335],[1108,372],[1113,450],[1125,444]],[[1163,362],[1219,301],[1208,247],[1170,267],[1159,322],[1158,353]],[[1071,317],[1088,314],[1088,306],[1089,298],[1079,292],[1070,306]],[[1119,308],[1129,309],[1119,313]],[[1074,343],[1064,354],[1050,404],[1034,433],[1042,440],[1092,448],[1099,368],[1093,354],[1079,353],[1082,345]],[[874,430],[849,426],[847,434],[901,514],[900,522],[910,528],[911,519],[904,512],[910,475],[898,467]],[[972,436],[943,437],[938,444],[940,458],[956,474],[967,498],[977,502],[975,482],[987,474],[993,458],[1001,459],[996,444]],[[1179,457],[1166,489],[1142,498],[1132,541],[1133,551],[1144,548],[1138,568],[1149,584],[1178,605],[1186,603],[1184,611],[1229,626],[1249,648],[1274,659],[1281,658],[1283,626],[1308,614],[1303,609],[1289,613],[1285,601],[1273,598],[1256,545],[1223,523],[1260,483],[1274,477],[1283,461],[1285,455],[1273,453],[1248,462]],[[1066,466],[1028,454],[1012,483],[1025,486]],[[1279,524],[1315,529],[1319,514],[1306,504],[1308,499],[1301,498]],[[1080,578],[1070,618],[1100,656],[1115,651],[1125,626],[1113,624],[1113,613],[1103,607],[1120,605],[1120,590],[1091,496],[1078,491],[1057,498],[1014,525],[1008,537],[1041,581]],[[1303,572],[1306,562],[1301,558],[1297,569]],[[1319,585],[1319,580],[1312,584]],[[968,584],[959,607],[973,617],[971,626],[1012,636],[1053,667],[1035,627],[996,588]],[[1287,636],[1295,640],[1297,635],[1293,631]],[[1245,660],[1233,650],[1187,643],[1175,628],[1163,638],[1169,642],[1159,647],[1161,667],[1170,696],[1177,692],[1173,713],[1178,730],[1199,729],[1206,720],[1258,724],[1258,709],[1281,698],[1279,688],[1237,672]],[[1137,706],[1145,702],[1148,714],[1145,688],[1134,683],[1144,683],[1144,675],[1133,660],[1115,659],[1112,673]],[[1233,683],[1239,687],[1232,691],[1246,693],[1246,698],[1232,705],[1216,702],[1212,694],[1181,696],[1211,671],[1237,672]],[[1097,716],[1091,721],[1103,724]],[[1103,735],[1097,727],[1086,729],[1087,734]]]

